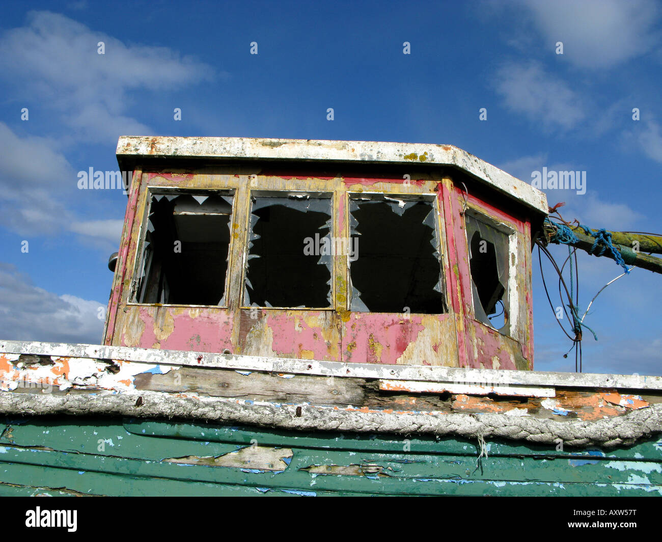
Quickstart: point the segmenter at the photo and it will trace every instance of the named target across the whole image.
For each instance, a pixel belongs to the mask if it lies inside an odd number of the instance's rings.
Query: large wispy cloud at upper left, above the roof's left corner
[[[31,11],[27,19],[0,38],[0,74],[21,81],[22,98],[59,111],[80,140],[115,143],[120,135],[149,133],[123,115],[130,91],[172,90],[214,76],[211,66],[169,48],[126,46],[64,15]],[[97,54],[99,42],[105,54]]]

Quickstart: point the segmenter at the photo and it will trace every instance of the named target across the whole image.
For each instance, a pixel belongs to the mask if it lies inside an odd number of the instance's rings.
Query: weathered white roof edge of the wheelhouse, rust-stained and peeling
[[[119,138],[117,161],[121,170],[134,168],[134,164],[145,157],[451,166],[464,170],[484,184],[547,215],[547,197],[544,192],[452,145],[248,137]]]

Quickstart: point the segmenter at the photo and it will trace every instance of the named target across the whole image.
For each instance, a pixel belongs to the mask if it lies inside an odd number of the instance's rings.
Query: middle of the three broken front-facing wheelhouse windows
[[[331,197],[252,197],[244,305],[331,305]]]

